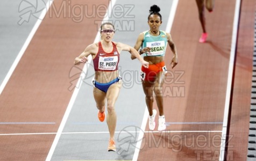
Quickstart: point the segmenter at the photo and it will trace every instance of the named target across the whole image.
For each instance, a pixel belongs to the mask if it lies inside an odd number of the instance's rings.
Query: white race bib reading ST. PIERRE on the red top
[[[117,67],[117,62],[118,62],[117,56],[109,56],[109,57],[99,56],[98,69],[115,70]]]

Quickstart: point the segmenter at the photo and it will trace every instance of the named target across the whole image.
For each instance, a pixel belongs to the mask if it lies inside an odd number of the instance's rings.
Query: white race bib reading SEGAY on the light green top
[[[165,52],[165,41],[147,42],[147,47],[151,47],[150,53],[147,53],[148,56],[163,55]]]

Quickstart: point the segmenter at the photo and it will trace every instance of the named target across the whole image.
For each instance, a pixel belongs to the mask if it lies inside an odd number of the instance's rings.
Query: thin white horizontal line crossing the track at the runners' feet
[[[108,134],[109,131],[91,131],[91,132],[66,132],[61,134]],[[115,133],[140,133],[140,131],[115,131]],[[200,130],[200,131],[144,131],[145,133],[222,133],[221,130],[209,131],[209,130]],[[55,135],[58,133],[12,133],[12,134],[0,134],[0,136],[11,136],[11,135]],[[138,137],[139,138],[139,137]],[[136,147],[137,148],[137,147]]]

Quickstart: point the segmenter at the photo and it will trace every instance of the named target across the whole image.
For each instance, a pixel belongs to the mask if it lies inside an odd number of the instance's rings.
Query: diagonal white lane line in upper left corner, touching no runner
[[[20,49],[19,54],[17,55],[15,61],[13,62],[13,64],[11,65],[10,70],[8,71],[8,73],[6,74],[1,86],[0,86],[0,95],[4,90],[5,85],[8,83],[13,71],[15,70],[15,68],[17,67],[17,64],[20,61],[20,58],[22,58],[23,54],[25,53],[25,50],[27,49],[27,47],[30,44],[30,41],[32,40],[35,32],[37,32],[38,27],[40,26],[42,19],[44,19],[47,11],[49,10],[50,6],[52,5],[54,0],[49,0],[48,3],[46,3],[46,11],[42,11],[42,13],[40,14],[40,17],[38,18],[37,22],[35,23],[34,27],[32,28],[29,36],[27,36],[27,39],[22,47],[22,49]]]

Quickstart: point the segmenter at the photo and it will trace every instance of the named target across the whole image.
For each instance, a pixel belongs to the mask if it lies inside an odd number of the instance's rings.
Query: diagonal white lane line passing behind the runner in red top
[[[104,21],[107,21],[107,20],[109,19],[109,17],[111,16],[112,8],[113,8],[113,5],[115,5],[115,3],[116,3],[116,0],[111,0],[111,1],[110,1],[109,6],[108,6],[108,11],[105,13],[103,22],[104,22]],[[98,31],[99,31],[99,30],[98,30]],[[97,35],[96,35],[95,40],[94,40],[94,43],[99,41],[99,35],[100,35],[99,32],[97,32]],[[86,71],[87,71],[87,69],[89,68],[89,64],[90,64],[90,62],[91,62],[91,56],[88,57],[88,58],[89,58],[88,63],[87,63],[86,65],[84,65],[84,67],[83,67],[83,71],[82,71],[82,73],[81,73],[81,76],[79,77],[79,80],[77,81],[76,88],[75,88],[75,90],[74,90],[74,92],[73,92],[73,94],[72,94],[72,97],[71,97],[71,99],[70,99],[70,101],[69,101],[69,104],[68,104],[68,107],[67,107],[67,109],[66,109],[66,112],[65,112],[65,114],[64,114],[64,116],[63,116],[63,118],[62,118],[62,121],[61,121],[61,123],[60,123],[60,127],[59,127],[59,129],[58,129],[58,131],[57,131],[57,134],[56,134],[55,138],[54,138],[52,147],[51,147],[51,149],[49,150],[49,153],[48,153],[48,155],[47,155],[46,161],[50,161],[50,160],[51,160],[51,158],[52,158],[52,156],[53,156],[53,152],[54,152],[54,150],[55,150],[55,148],[56,148],[56,145],[58,144],[58,142],[59,142],[59,140],[60,140],[60,136],[61,136],[62,131],[63,131],[64,127],[65,127],[65,124],[66,124],[66,122],[67,122],[69,113],[70,113],[70,111],[71,111],[71,109],[72,109],[72,107],[73,107],[73,105],[74,105],[75,99],[76,99],[77,94],[78,94],[78,92],[79,92],[79,90],[80,90],[80,87],[81,87],[81,86],[79,85],[79,84],[80,84],[80,81],[82,81],[81,79],[84,78],[84,76],[86,75]]]

